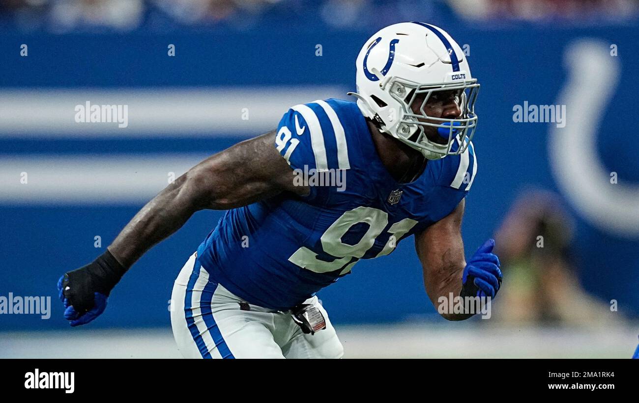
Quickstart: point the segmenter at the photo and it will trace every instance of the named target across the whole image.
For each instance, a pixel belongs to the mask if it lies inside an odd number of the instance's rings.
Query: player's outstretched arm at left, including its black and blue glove
[[[275,131],[238,143],[205,159],[147,203],[119,233],[107,252],[59,281],[65,318],[83,325],[104,312],[111,289],[153,245],[203,209],[233,209],[293,186],[293,170],[273,147]]]

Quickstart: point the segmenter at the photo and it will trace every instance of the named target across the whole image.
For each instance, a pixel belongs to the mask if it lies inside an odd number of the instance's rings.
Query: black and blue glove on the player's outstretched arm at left
[[[58,280],[58,296],[71,326],[85,325],[107,307],[107,297],[127,270],[107,250],[88,265]]]

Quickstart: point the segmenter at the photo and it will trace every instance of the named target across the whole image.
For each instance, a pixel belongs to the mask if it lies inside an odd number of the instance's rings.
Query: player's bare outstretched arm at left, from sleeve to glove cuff
[[[234,209],[281,191],[307,194],[308,187],[293,186],[293,170],[273,147],[274,138],[272,131],[204,159],[142,207],[109,251],[129,268],[199,210]]]

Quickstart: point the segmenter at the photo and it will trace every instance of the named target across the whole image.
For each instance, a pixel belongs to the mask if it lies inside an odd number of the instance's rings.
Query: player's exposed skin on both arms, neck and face
[[[415,108],[419,109],[419,105]],[[461,115],[454,96],[429,99],[425,110],[432,117]],[[383,165],[394,178],[413,178],[422,172],[425,161],[419,151],[382,133],[372,123],[369,129]],[[181,175],[135,214],[109,245],[111,254],[123,267],[129,268],[153,245],[180,229],[199,210],[233,209],[282,192],[300,196],[308,194],[308,187],[294,185],[293,170],[273,147],[275,134],[275,131],[270,131],[237,143]],[[427,131],[427,136],[433,136],[435,140],[436,131]],[[435,306],[440,296],[449,297],[451,292],[458,296],[461,290],[461,277],[466,266],[461,239],[463,212],[462,200],[449,216],[415,236],[424,286]],[[449,320],[462,320],[472,315],[442,316]]]

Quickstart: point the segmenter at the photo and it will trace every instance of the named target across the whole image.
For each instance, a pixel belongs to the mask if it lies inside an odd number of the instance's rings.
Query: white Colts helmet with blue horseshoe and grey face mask
[[[427,159],[466,150],[477,126],[474,112],[479,84],[470,75],[463,50],[443,29],[422,22],[402,22],[378,31],[357,56],[357,105],[382,131],[417,149]],[[458,91],[459,119],[432,117],[424,106],[434,92]],[[415,99],[424,100],[420,114]],[[448,142],[429,140],[424,126],[437,128]],[[452,150],[454,142],[459,147]],[[443,141],[442,141],[443,142]]]

